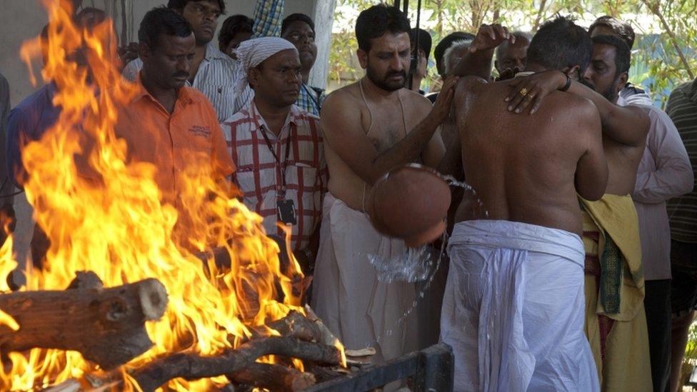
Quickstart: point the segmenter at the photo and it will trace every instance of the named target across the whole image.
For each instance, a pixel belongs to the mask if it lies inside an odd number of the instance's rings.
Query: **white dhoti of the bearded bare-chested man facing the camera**
[[[414,284],[378,281],[367,257],[405,251],[403,241],[375,231],[363,213],[324,196],[312,308],[346,348],[376,348],[373,362],[416,349],[413,314],[398,322],[415,299]]]

